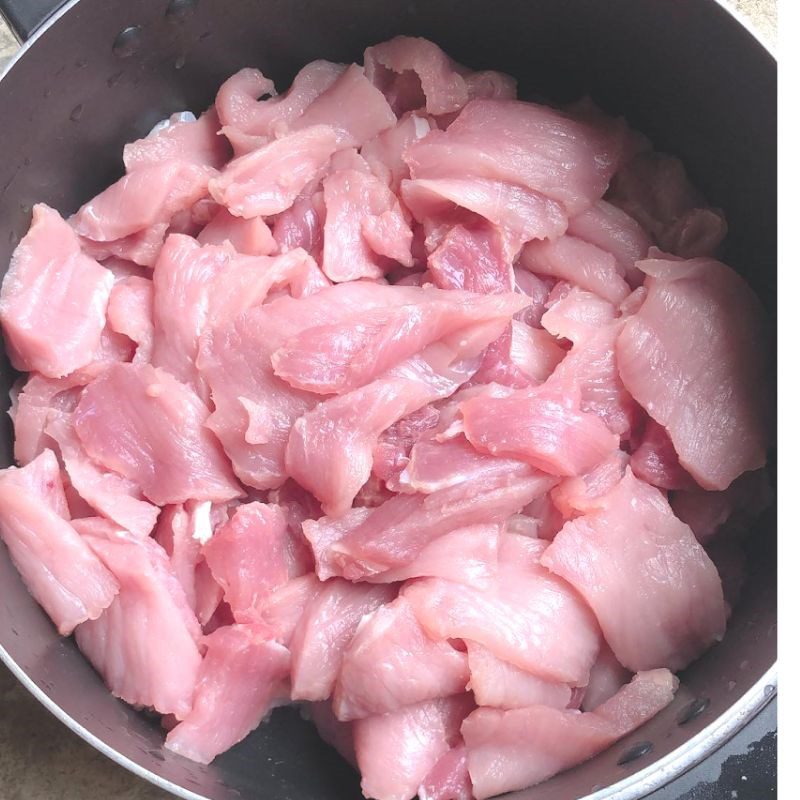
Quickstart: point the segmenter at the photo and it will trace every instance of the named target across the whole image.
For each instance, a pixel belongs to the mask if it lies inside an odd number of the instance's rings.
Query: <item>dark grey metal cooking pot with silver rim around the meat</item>
[[[0,2],[23,37],[48,5]],[[776,65],[714,0],[73,0],[0,83],[0,263],[34,202],[74,211],[119,176],[126,141],[174,111],[205,108],[240,67],[259,67],[285,87],[312,59],[359,60],[366,45],[399,33],[427,36],[471,67],[515,75],[522,97],[588,93],[680,156],[726,210],[727,260],[774,321]],[[4,360],[4,408],[13,379]],[[11,429],[1,416],[6,466]],[[681,675],[673,705],[590,763],[518,797],[645,796],[770,700],[774,531],[774,515],[754,531],[751,577],[728,635]],[[0,587],[0,657],[66,725],[128,769],[200,800],[359,795],[355,773],[290,709],[210,767],[163,750],[158,721],[106,691],[74,642],[56,635],[2,547]]]

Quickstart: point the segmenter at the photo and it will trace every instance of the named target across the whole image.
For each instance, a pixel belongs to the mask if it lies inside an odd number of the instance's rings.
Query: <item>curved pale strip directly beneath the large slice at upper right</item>
[[[567,217],[558,202],[508,181],[418,178],[402,182],[401,196],[414,217],[425,223],[446,220],[456,209],[488,220],[502,231],[512,254],[523,242],[561,236],[567,229]]]

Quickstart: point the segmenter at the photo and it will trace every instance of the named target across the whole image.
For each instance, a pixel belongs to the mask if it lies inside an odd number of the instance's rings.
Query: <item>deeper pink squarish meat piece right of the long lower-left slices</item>
[[[264,598],[305,570],[280,506],[247,503],[203,545],[203,556],[237,622],[256,622]]]

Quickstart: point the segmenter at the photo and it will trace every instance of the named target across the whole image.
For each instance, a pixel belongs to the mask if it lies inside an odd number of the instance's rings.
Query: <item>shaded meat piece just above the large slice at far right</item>
[[[624,269],[631,286],[639,286],[643,275],[636,262],[646,258],[653,241],[642,226],[621,208],[598,200],[591,208],[569,221],[567,231],[610,253]]]

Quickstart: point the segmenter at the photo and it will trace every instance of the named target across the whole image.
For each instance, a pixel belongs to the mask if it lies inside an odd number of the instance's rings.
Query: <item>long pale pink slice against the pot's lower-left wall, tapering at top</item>
[[[124,532],[86,541],[120,589],[99,619],[75,629],[78,647],[115,697],[183,719],[202,661],[201,632],[167,554],[153,539]]]

